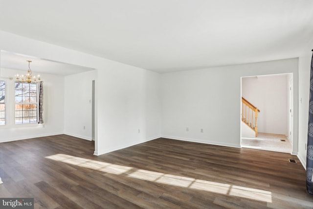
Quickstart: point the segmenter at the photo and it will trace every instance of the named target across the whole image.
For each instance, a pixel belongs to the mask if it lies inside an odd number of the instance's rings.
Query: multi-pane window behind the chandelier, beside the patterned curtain
[[[15,124],[37,123],[38,84],[15,83]]]

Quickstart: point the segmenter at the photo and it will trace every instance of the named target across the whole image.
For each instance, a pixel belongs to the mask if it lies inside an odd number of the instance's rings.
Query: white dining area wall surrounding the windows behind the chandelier
[[[1,68],[1,78],[14,77],[15,74],[25,74],[25,71]],[[14,124],[14,80],[6,79],[7,90],[10,91],[7,95],[13,96],[6,101],[6,109],[11,109],[7,114],[11,116],[7,117],[5,126],[0,126],[0,142],[64,132],[64,77],[44,73],[41,73],[41,77],[44,81],[44,124]]]

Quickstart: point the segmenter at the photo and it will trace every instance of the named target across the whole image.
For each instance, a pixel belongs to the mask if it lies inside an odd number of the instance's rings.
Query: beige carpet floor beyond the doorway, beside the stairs
[[[282,141],[285,140],[285,141]],[[243,148],[268,150],[274,152],[291,153],[291,143],[285,135],[258,133],[256,138],[242,138]]]

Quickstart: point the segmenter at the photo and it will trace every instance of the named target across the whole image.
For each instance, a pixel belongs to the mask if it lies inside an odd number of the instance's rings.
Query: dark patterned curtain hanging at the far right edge
[[[307,191],[311,195],[313,195],[313,97],[312,95],[313,95],[313,55],[312,55],[312,60],[311,60],[309,125],[308,125],[308,143],[307,143]]]

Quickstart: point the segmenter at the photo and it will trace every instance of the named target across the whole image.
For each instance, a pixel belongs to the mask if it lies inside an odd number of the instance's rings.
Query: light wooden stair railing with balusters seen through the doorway
[[[254,132],[255,137],[258,137],[258,112],[260,110],[252,105],[244,97],[241,97],[242,101],[242,116],[241,120],[246,123]]]

